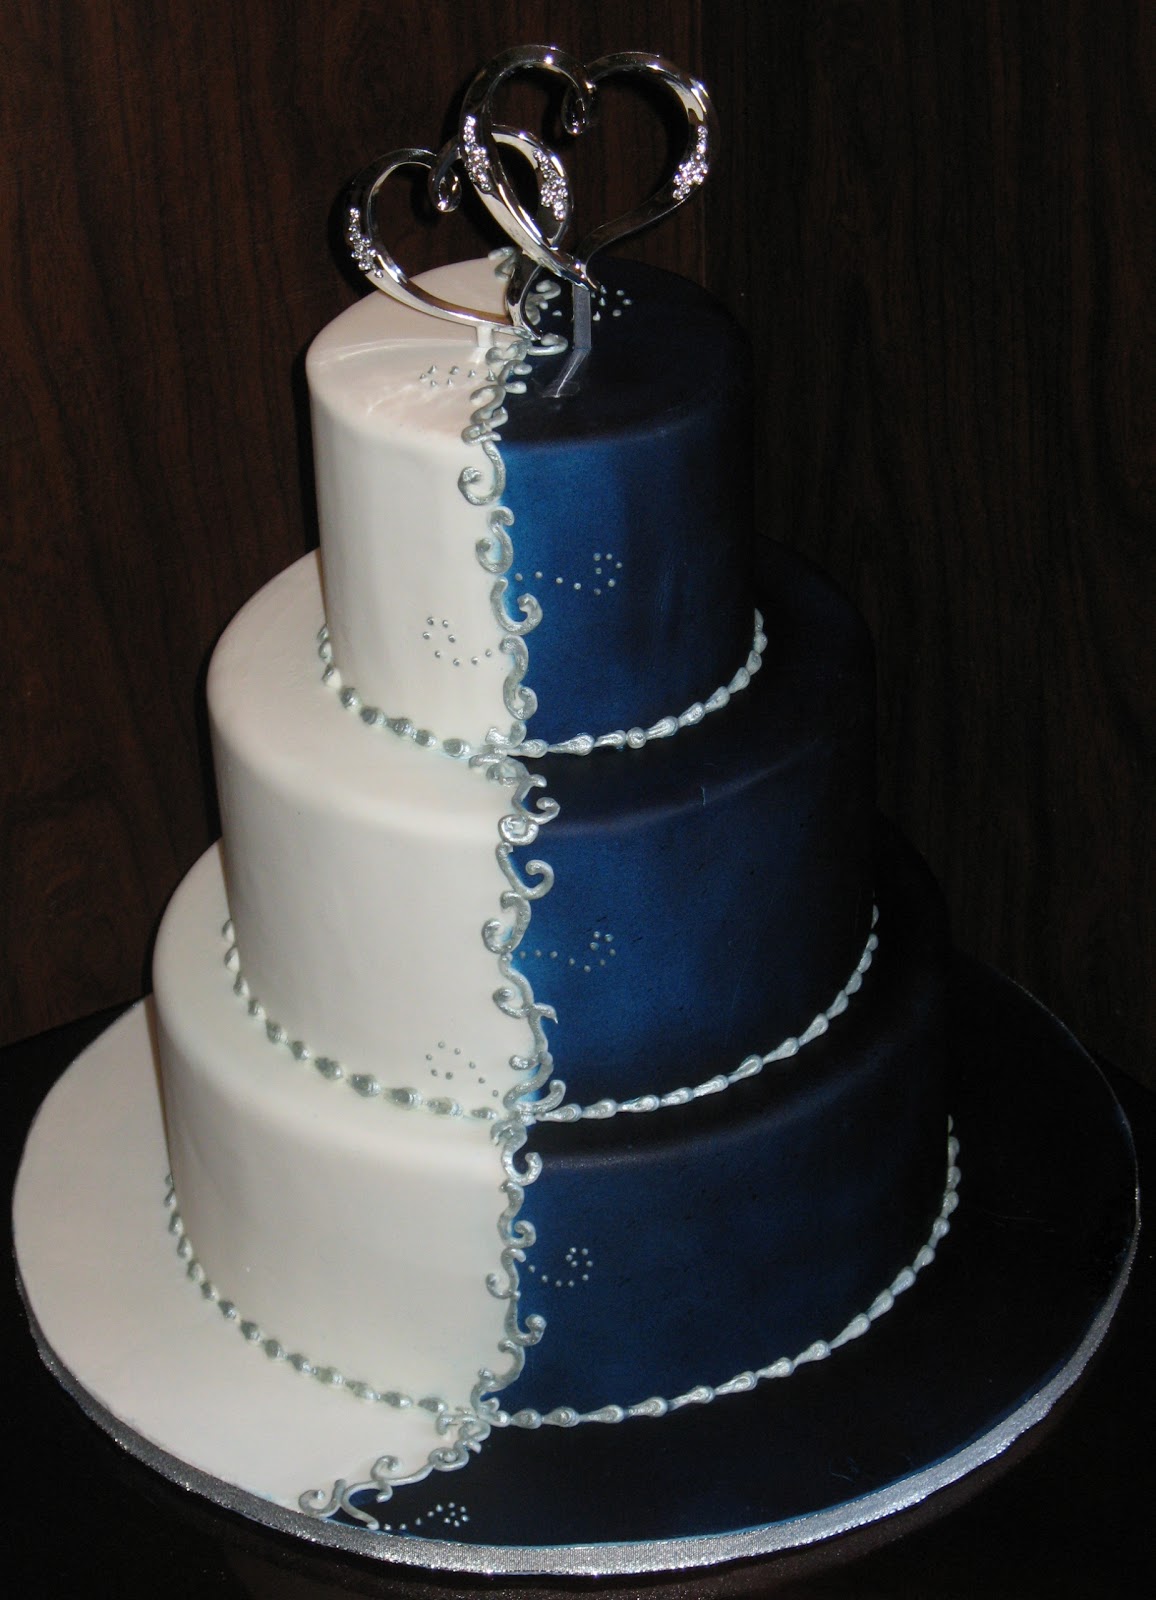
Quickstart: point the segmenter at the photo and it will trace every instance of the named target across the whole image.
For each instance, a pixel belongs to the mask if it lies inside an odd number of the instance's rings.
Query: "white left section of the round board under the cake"
[[[304,1483],[365,1477],[383,1453],[421,1470],[447,1443],[429,1411],[359,1403],[264,1360],[186,1280],[160,1205],[151,1024],[146,1002],[102,1034],[54,1085],[26,1147],[13,1230],[54,1370],[82,1386],[86,1410],[131,1430],[138,1454],[147,1442],[261,1501],[296,1506]],[[227,1059],[243,1072],[235,1038]]]

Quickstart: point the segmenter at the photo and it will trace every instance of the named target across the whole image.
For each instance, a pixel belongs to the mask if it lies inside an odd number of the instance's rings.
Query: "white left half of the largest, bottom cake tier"
[[[469,1408],[479,1373],[509,1368],[508,1307],[487,1283],[504,1283],[508,1208],[492,1126],[399,1115],[271,1050],[221,982],[224,914],[211,850],[178,890],[154,962],[170,1162],[199,1264],[288,1352],[378,1392]],[[157,1190],[163,1232],[160,1216]],[[432,1422],[423,1437],[432,1450]]]

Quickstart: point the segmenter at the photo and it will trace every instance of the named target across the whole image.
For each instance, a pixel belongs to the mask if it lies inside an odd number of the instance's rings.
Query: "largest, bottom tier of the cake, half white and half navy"
[[[367,1099],[267,1035],[223,963],[210,851],[155,957],[179,1229],[202,1291],[227,1296],[266,1354],[426,1405],[431,1424],[469,1406],[479,1371],[509,1371],[532,1315],[546,1331],[500,1394],[503,1422],[749,1387],[865,1331],[927,1262],[949,1187],[940,899],[893,840],[877,882],[869,971],[797,1054],[682,1106],[536,1123],[543,1170],[522,1197],[493,1125]]]

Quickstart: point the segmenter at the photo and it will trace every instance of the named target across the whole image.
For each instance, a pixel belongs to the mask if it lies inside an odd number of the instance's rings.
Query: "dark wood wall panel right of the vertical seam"
[[[745,88],[708,234],[767,363],[762,526],[868,616],[881,802],[959,942],[1150,1080],[1154,43],[1076,3],[706,38]]]

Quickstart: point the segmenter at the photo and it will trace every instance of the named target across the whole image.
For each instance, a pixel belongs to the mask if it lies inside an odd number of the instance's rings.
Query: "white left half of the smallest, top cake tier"
[[[493,262],[424,274],[445,299],[501,307]],[[314,341],[307,378],[333,654],[368,704],[482,744],[509,726],[509,659],[476,547],[487,509],[458,488],[492,467],[466,443],[490,341],[370,294]]]

